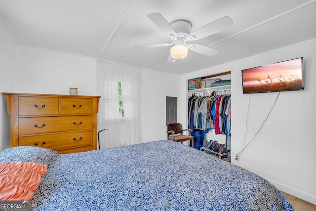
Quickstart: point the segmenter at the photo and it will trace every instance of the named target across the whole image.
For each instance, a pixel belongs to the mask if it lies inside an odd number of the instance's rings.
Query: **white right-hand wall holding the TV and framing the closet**
[[[280,92],[262,130],[240,154],[240,161],[234,160],[243,144],[249,143],[261,127],[277,96],[277,92],[242,94],[241,70],[298,57],[304,57],[304,90]],[[316,39],[184,75],[182,95],[186,96],[186,80],[230,70],[232,163],[266,178],[282,191],[316,204]],[[186,99],[182,104],[186,105]]]

